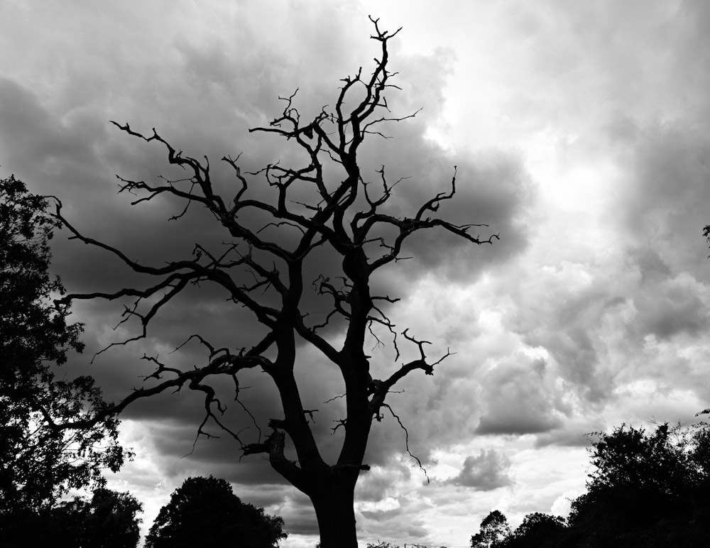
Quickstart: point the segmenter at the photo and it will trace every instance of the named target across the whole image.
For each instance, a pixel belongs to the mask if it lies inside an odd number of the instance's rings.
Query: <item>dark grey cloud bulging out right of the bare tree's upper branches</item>
[[[488,224],[472,228],[472,236],[487,239],[501,234],[495,245],[478,249],[464,239],[442,230],[416,234],[405,245],[405,255],[413,256],[402,272],[406,278],[434,270],[452,280],[470,283],[481,269],[523,251],[527,235],[522,226],[527,207],[534,201],[535,187],[518,158],[506,153],[452,154],[427,138],[427,125],[441,115],[442,90],[450,72],[451,58],[443,51],[430,57],[393,60],[398,65],[398,85],[402,94],[391,94],[391,109],[406,115],[422,109],[414,119],[384,126],[390,139],[373,138],[366,144],[363,173],[377,181],[376,169],[384,166],[388,181],[398,184],[387,211],[411,215],[439,192],[449,192],[454,165],[457,166],[457,193],[442,202],[433,217],[454,224]],[[403,65],[403,66],[401,66]]]

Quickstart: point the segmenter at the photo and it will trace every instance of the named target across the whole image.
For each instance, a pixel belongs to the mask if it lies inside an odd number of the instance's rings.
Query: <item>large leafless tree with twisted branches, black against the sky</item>
[[[385,305],[397,299],[371,294],[373,273],[402,258],[400,251],[403,243],[417,231],[443,229],[476,244],[492,243],[493,238],[498,238],[493,235],[481,239],[469,233],[475,226],[486,225],[457,225],[435,217],[442,203],[454,197],[455,167],[449,190],[427,200],[413,212],[412,217],[388,214],[386,202],[393,196],[396,183],[388,182],[384,168],[378,172],[381,192],[373,190],[361,177],[358,151],[366,136],[382,136],[381,124],[414,116],[410,114],[398,118],[389,114],[385,92],[396,86],[390,83],[393,74],[388,72],[387,67],[388,41],[399,31],[381,31],[378,20],[371,18],[371,21],[375,29],[371,38],[381,44],[381,56],[375,59],[370,77],[362,77],[359,70],[356,75],[342,80],[344,84],[334,110],[324,107],[304,124],[293,105],[292,95],[284,99],[283,112],[268,127],[249,130],[275,133],[293,141],[307,155],[307,165],[289,168],[275,164],[257,172],[243,172],[239,158],[222,158],[231,166],[238,181],[236,196],[231,201],[226,201],[214,191],[206,158],[203,161],[182,155],[155,130],[152,135],[145,135],[134,131],[128,124],[113,122],[131,136],[160,143],[167,150],[169,163],[189,173],[186,179],[163,179],[160,185],[119,177],[121,190],[141,194],[134,204],[160,195],[178,197],[185,202],[182,214],[190,204],[201,204],[231,236],[231,243],[224,253],[218,255],[206,246],[196,245],[189,261],[150,266],[131,260],[113,246],[80,234],[62,217],[60,205],[56,212],[58,219],[72,232],[73,238],[113,253],[136,273],[151,275],[157,280],[151,287],[143,289],[124,287],[115,292],[67,295],[65,302],[136,297],[135,305],[127,308],[124,315],[126,319],[132,317],[141,322],[142,334],[138,335],[139,338],[146,336],[146,329],[155,314],[186,287],[211,282],[224,288],[235,305],[246,307],[261,324],[266,334],[236,353],[229,349],[216,349],[203,336],[193,335],[193,340],[199,340],[209,349],[209,361],[189,371],[168,366],[157,357],[144,356],[155,365],[150,377],[159,382],[133,391],[111,412],[120,412],[131,402],[166,390],[179,390],[187,386],[201,391],[204,393],[205,415],[198,436],[209,435],[203,427],[212,420],[241,444],[244,455],[267,454],[275,471],[312,500],[324,548],[357,546],[354,488],[360,472],[368,469],[363,463],[368,434],[373,419],[381,419],[383,408],[388,408],[388,393],[399,380],[413,371],[432,375],[437,363],[449,355],[447,352],[437,361],[430,361],[425,354],[427,341],[417,339],[407,330],[395,331],[395,326],[386,316]],[[360,99],[353,103],[346,101],[353,101],[354,97]],[[354,104],[354,108],[348,109],[347,104]],[[324,175],[326,169],[333,168],[342,173],[342,178],[337,182]],[[256,176],[266,177],[275,192],[274,203],[248,197]],[[293,200],[304,187],[315,192],[317,198],[314,202]],[[268,217],[268,221],[261,225],[250,224],[246,219],[253,213]],[[268,231],[263,230],[264,225],[269,227]],[[266,237],[273,231],[280,234],[288,231],[296,237],[292,244],[285,245]],[[315,250],[324,248],[339,257],[342,282],[334,282],[325,275],[315,280],[317,293],[332,302],[324,322],[313,324],[303,307],[304,292],[313,283],[305,279],[304,263]],[[246,282],[245,272],[249,273],[249,281]],[[345,328],[344,341],[339,348],[333,346],[323,334],[331,320],[342,322]],[[397,336],[403,336],[408,344],[415,345],[418,357],[395,368],[387,378],[372,378],[368,361],[370,356],[366,356],[364,345],[373,327],[388,330],[394,337],[395,349]],[[302,344],[314,346],[327,361],[337,366],[344,382],[346,417],[339,421],[344,429],[344,442],[337,461],[332,464],[322,457],[309,422],[313,410],[307,410],[302,405],[294,377],[297,351]],[[398,359],[398,349],[396,354],[395,359]],[[224,407],[209,380],[216,376],[231,376],[239,395],[237,376],[240,371],[249,368],[261,368],[273,379],[280,394],[283,417],[268,421],[272,432],[266,441],[248,444],[241,442],[239,432],[224,424],[220,414]],[[290,461],[284,455],[287,435],[295,449],[296,461]]]

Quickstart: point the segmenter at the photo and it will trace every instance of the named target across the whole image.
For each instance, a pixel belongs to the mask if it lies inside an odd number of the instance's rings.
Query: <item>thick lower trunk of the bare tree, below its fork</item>
[[[318,518],[321,548],[357,548],[354,486],[324,482],[310,497]]]

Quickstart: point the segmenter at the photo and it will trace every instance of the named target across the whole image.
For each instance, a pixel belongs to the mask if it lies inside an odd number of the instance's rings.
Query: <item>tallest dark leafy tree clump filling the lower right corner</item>
[[[598,434],[587,492],[572,503],[571,530],[596,545],[701,546],[710,535],[709,427],[626,425]]]

